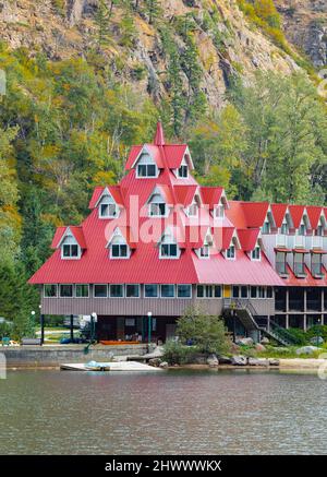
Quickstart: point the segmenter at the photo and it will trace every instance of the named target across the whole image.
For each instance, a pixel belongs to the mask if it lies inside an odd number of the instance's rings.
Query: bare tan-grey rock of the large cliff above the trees
[[[110,4],[109,1],[107,3]],[[135,3],[135,0],[131,0],[131,4]],[[138,3],[142,4],[142,1]],[[249,82],[256,70],[289,74],[298,69],[290,56],[247,23],[235,0],[161,0],[160,3],[161,26],[169,27],[174,19],[193,14],[201,69],[199,88],[214,107],[221,106],[233,71]],[[325,0],[316,3],[323,8]],[[44,51],[51,60],[85,56],[95,48],[97,10],[98,0],[2,0],[1,38],[12,48],[26,47],[31,55]],[[158,26],[159,22],[150,24],[141,10],[132,12],[133,38],[128,43],[122,26],[126,12],[113,7],[110,16],[111,38],[102,48],[102,55],[121,81],[129,82],[136,91],[150,94],[157,100],[165,96],[169,83],[169,58],[162,43],[162,28]],[[292,24],[287,22],[293,20],[288,13],[284,19],[286,29],[289,31],[291,26],[288,25]],[[316,27],[313,31],[322,45],[320,29]],[[180,51],[185,49],[184,40],[178,33],[173,33],[172,40]],[[294,37],[294,41],[298,41],[298,37]],[[310,45],[307,47],[316,51],[312,53],[316,63],[324,62],[323,47],[315,49],[312,39]],[[186,73],[181,74],[186,82]]]

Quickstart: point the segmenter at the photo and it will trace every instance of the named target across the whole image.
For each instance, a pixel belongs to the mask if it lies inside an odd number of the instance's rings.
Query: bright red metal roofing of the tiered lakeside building
[[[120,184],[108,186],[108,191],[120,205],[119,217],[112,219],[102,219],[98,216],[96,204],[105,188],[97,187],[89,203],[92,212],[88,217],[81,226],[70,226],[83,249],[81,259],[61,259],[58,246],[66,227],[59,227],[52,241],[52,247],[57,250],[34,274],[29,283],[214,283],[271,286],[282,286],[286,283],[302,286],[303,278],[296,278],[291,273],[283,282],[264,252],[259,261],[252,261],[246,253],[253,250],[257,242],[259,227],[269,208],[268,203],[231,201],[222,220],[216,220],[208,208],[204,207],[199,213],[202,222],[198,225],[196,219],[185,215],[183,207],[192,203],[195,192],[199,190],[203,203],[211,208],[221,199],[223,189],[201,187],[191,175],[187,178],[179,178],[174,175],[172,169],[179,167],[187,146],[166,145],[160,124],[157,126],[155,143],[145,146],[158,164],[160,169],[158,178],[136,178],[135,169],[131,169]],[[132,167],[142,148],[141,145],[132,147],[128,169]],[[156,188],[168,204],[180,205],[171,210],[168,218],[148,217],[148,199]],[[304,206],[293,205],[290,208],[296,226],[301,222]],[[317,208],[320,207],[307,207],[313,226],[318,220]],[[278,227],[281,225],[286,210],[284,204],[271,205]],[[117,227],[132,249],[130,259],[109,258],[106,246]],[[159,258],[158,243],[168,227],[181,249],[178,260]],[[216,250],[213,251],[209,260],[202,260],[194,249],[203,246],[208,230],[214,238]],[[241,250],[237,250],[235,260],[227,260],[220,251],[230,246],[234,230]],[[301,252],[304,250],[301,249]],[[322,250],[312,252],[323,253]],[[315,279],[307,271],[304,282],[326,286],[325,269],[324,273],[323,279]]]

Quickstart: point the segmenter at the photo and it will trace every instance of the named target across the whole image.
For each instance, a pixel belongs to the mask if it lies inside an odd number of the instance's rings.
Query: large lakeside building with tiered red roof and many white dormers
[[[160,123],[125,169],[80,226],[57,229],[29,279],[44,314],[96,314],[98,339],[165,341],[190,306],[281,343],[278,325],[327,323],[326,208],[229,202],[196,182],[187,145],[166,144]]]

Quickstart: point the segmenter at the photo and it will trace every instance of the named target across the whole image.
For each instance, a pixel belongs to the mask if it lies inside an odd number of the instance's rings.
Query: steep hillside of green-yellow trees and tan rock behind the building
[[[0,25],[0,317],[20,333],[56,226],[158,118],[230,199],[326,203],[326,104],[272,0],[4,1]]]

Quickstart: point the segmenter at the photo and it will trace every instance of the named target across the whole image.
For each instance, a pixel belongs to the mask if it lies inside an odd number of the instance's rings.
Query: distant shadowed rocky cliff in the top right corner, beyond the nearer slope
[[[327,65],[327,1],[275,0],[287,37],[319,69]]]

